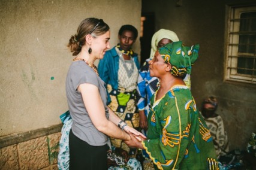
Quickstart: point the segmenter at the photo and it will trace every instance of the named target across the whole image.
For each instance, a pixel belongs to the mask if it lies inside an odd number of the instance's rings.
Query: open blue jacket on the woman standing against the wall
[[[140,62],[138,61],[138,54],[134,53],[132,59],[135,62],[135,65],[140,69]],[[118,69],[119,69],[119,55],[116,52],[115,47],[111,50],[106,51],[103,59],[100,60],[98,64],[98,73],[101,79],[107,84],[112,86],[112,89],[118,90]],[[108,103],[111,102],[109,93],[107,92]]]

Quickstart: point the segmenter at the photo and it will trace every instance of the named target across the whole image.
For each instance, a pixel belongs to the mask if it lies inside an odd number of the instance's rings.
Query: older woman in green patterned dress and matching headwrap
[[[159,48],[149,62],[159,89],[150,101],[147,139],[141,142],[130,134],[131,141],[125,143],[146,150],[155,169],[219,169],[212,136],[182,80],[191,74],[198,50],[198,44],[172,42]]]

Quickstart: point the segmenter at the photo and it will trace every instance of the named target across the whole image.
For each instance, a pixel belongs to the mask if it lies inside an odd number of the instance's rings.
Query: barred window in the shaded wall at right
[[[226,80],[256,84],[256,5],[230,7]]]

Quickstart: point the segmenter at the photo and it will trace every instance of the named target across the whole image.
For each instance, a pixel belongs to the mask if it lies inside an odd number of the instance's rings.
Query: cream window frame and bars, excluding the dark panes
[[[251,75],[237,73],[237,60],[238,57],[250,56],[256,60],[256,52],[239,53],[239,28],[240,28],[240,13],[256,11],[256,4],[247,5],[227,5],[226,7],[226,32],[225,32],[225,65],[224,65],[224,81],[240,82],[243,84],[255,84],[256,77]],[[239,16],[237,18],[237,16]],[[237,22],[239,19],[239,22]],[[234,45],[236,44],[236,45]],[[256,44],[255,44],[256,45]],[[254,69],[256,66],[254,66]],[[254,71],[252,71],[254,72]]]

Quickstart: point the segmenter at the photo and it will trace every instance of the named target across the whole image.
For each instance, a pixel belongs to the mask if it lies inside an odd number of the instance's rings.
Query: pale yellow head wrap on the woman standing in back
[[[153,59],[153,56],[155,56],[155,51],[157,50],[158,42],[161,41],[163,38],[167,38],[173,42],[179,41],[179,38],[177,37],[175,32],[170,31],[168,29],[159,29],[159,31],[153,34],[151,40],[150,59]]]

